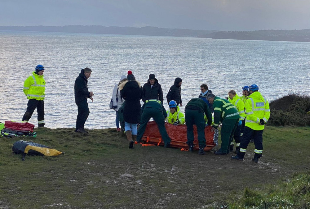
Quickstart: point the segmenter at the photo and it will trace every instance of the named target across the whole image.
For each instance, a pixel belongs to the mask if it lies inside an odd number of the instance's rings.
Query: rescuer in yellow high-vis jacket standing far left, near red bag
[[[27,96],[27,110],[23,116],[23,121],[28,122],[37,108],[38,126],[44,127],[44,98],[45,98],[45,80],[44,67],[37,65],[36,70],[24,82],[24,94]]]

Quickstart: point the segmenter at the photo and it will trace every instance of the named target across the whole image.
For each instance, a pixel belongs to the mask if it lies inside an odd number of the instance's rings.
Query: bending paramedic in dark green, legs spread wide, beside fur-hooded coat
[[[138,129],[137,142],[139,143],[144,134],[148,120],[153,117],[157,124],[160,135],[164,140],[164,148],[170,148],[170,141],[166,128],[165,128],[165,118],[167,117],[167,112],[162,102],[157,99],[146,100],[141,108],[141,124]]]

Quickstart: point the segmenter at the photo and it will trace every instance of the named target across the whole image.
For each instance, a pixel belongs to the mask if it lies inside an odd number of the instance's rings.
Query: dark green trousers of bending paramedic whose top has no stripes
[[[193,144],[194,142],[194,128],[195,124],[197,127],[198,144],[203,148],[206,147],[205,138],[205,119],[201,110],[185,110],[185,124],[187,127],[187,144]]]

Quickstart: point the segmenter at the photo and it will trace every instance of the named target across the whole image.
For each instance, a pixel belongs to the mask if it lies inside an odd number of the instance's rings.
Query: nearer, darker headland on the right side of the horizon
[[[304,41],[310,42],[310,29],[304,30],[255,30],[255,31],[218,31],[199,35],[201,38],[266,40],[266,41]]]

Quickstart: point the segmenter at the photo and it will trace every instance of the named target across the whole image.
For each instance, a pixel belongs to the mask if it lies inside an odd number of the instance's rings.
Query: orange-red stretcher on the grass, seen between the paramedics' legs
[[[170,123],[165,123],[165,128],[171,139],[170,146],[176,148],[184,148],[183,150],[186,151],[186,149],[188,149],[188,145],[186,143],[186,125],[172,125]],[[205,128],[206,147],[204,148],[204,151],[209,151],[215,147],[215,143],[213,142],[214,134],[213,132],[211,132],[211,128],[211,126]],[[148,125],[146,126],[145,132],[141,140],[143,142],[155,144],[157,146],[164,145],[164,141],[162,140],[162,136],[159,133],[155,121],[148,122]],[[194,149],[199,149],[196,125],[194,125]]]

